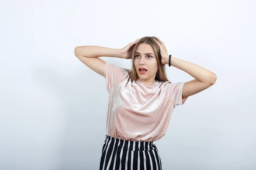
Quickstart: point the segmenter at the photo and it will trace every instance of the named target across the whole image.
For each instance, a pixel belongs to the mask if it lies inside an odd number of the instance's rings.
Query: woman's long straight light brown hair
[[[155,80],[158,80],[158,81],[163,81],[163,82],[166,82],[166,81],[169,81],[166,77],[166,70],[165,70],[165,65],[162,64],[161,62],[161,59],[162,59],[162,56],[161,56],[161,53],[160,53],[160,48],[159,48],[159,45],[157,44],[157,42],[155,42],[153,40],[153,38],[155,40],[157,40],[158,42],[159,39],[157,37],[143,37],[142,39],[140,39],[139,42],[137,42],[132,48],[130,48],[129,50],[132,51],[131,54],[132,54],[132,66],[131,66],[131,70],[125,68],[126,71],[128,71],[128,74],[129,74],[129,77],[131,80],[137,80],[139,78],[137,72],[136,72],[136,68],[135,68],[135,65],[134,65],[134,59],[135,59],[135,52],[136,52],[136,49],[137,49],[137,46],[142,44],[142,43],[145,43],[145,44],[149,44],[151,45],[151,47],[153,48],[154,50],[154,54],[155,54],[155,57],[157,59],[157,74],[156,74],[156,77],[155,77]]]

